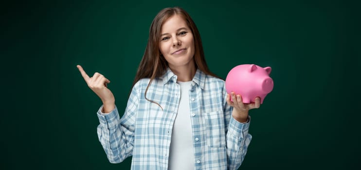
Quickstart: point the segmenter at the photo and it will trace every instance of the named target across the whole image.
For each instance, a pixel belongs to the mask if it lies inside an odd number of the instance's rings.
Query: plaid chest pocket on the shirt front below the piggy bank
[[[220,111],[206,113],[205,122],[207,125],[207,145],[212,148],[226,147],[226,133],[223,113]]]

